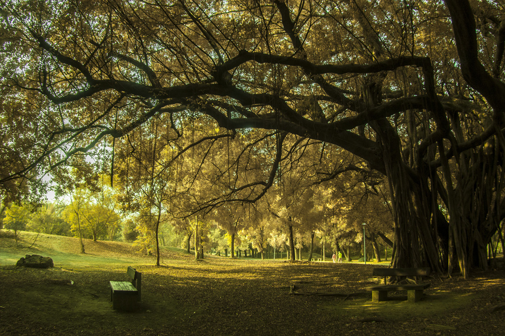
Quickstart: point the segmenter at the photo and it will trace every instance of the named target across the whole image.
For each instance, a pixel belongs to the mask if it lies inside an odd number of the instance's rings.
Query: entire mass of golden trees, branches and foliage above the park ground
[[[0,1],[4,225],[55,188],[81,241],[159,251],[172,227],[196,257],[294,260],[365,232],[394,266],[468,277],[504,244],[504,8]],[[42,230],[58,207],[38,209]]]

